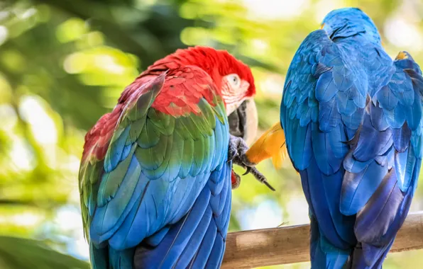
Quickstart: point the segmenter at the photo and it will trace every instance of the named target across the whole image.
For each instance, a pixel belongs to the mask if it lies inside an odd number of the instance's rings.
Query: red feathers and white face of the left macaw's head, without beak
[[[164,71],[175,71],[182,67],[196,66],[206,71],[212,78],[216,88],[226,103],[228,115],[233,112],[247,98],[256,94],[253,74],[251,69],[243,62],[236,59],[224,50],[214,50],[212,47],[189,47],[185,50],[177,50],[171,55],[158,60],[147,70],[138,76],[136,81],[128,86],[123,92],[119,103],[127,100],[139,85],[150,80],[152,76],[158,76]],[[182,93],[183,94],[183,93]],[[175,96],[162,92],[158,96],[158,103],[175,103]],[[157,106],[155,108],[158,108]]]

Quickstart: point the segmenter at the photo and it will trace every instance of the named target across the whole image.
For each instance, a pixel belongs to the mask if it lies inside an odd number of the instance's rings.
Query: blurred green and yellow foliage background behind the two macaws
[[[417,0],[0,1],[0,235],[38,239],[87,261],[77,189],[84,134],[126,85],[177,48],[229,50],[253,69],[263,132],[278,120],[285,74],[300,42],[343,6],[373,18],[392,57],[407,50],[423,63],[423,3]],[[278,191],[244,177],[234,191],[230,230],[307,223],[290,162],[280,171],[270,161],[259,168]],[[422,202],[419,188],[410,211],[422,210]],[[1,268],[23,268],[1,253]],[[422,263],[423,251],[409,251],[390,254],[384,268]]]

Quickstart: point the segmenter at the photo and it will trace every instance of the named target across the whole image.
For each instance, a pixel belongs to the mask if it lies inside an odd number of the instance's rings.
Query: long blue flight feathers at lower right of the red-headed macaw
[[[214,173],[230,173],[231,166],[228,164],[222,170]],[[219,173],[220,172],[220,173]],[[223,200],[222,209],[213,206],[214,200]],[[136,250],[136,268],[187,268],[189,263],[193,265],[218,263],[224,249],[226,223],[229,223],[231,207],[231,184],[230,178],[224,180],[221,193],[212,195],[208,185],[204,187],[188,214],[182,217],[176,224],[167,228],[168,231],[161,239],[160,244],[150,248],[144,241]],[[224,224],[224,225],[222,225]],[[210,240],[214,239],[214,240]],[[213,248],[213,251],[212,251]],[[163,253],[166,253],[163,255]],[[194,267],[197,268],[197,267]]]

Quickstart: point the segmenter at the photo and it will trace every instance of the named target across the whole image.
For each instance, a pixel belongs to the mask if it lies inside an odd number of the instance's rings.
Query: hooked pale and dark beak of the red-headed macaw
[[[236,137],[242,137],[250,145],[257,135],[258,115],[253,99],[243,101],[241,105],[228,116],[229,132]]]

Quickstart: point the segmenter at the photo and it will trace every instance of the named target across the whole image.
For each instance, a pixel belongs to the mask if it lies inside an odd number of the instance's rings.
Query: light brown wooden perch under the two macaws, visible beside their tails
[[[309,261],[309,225],[237,231],[229,233],[222,268]],[[423,248],[423,211],[410,213],[390,252]]]

